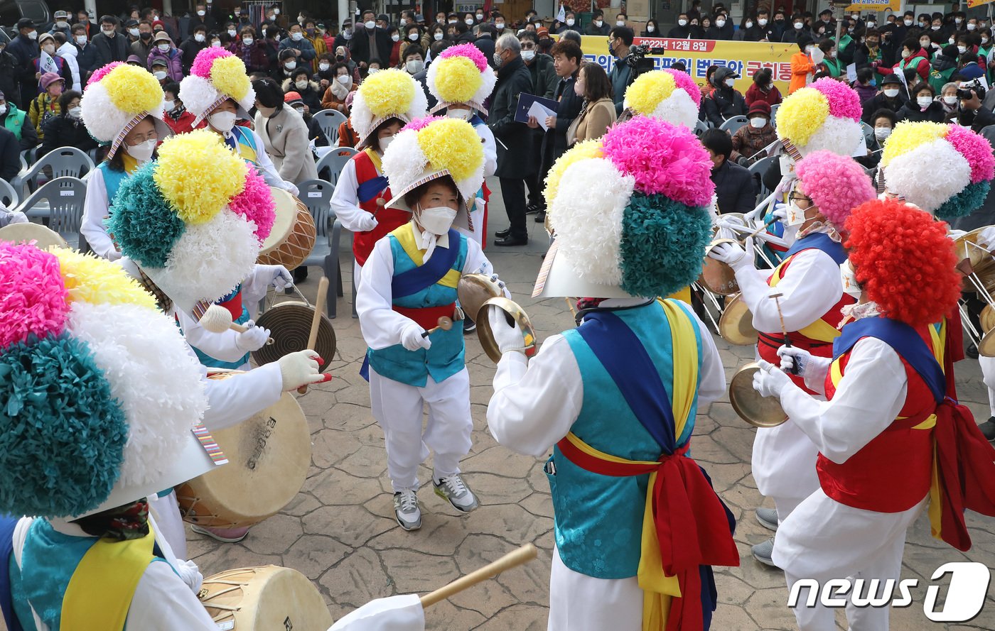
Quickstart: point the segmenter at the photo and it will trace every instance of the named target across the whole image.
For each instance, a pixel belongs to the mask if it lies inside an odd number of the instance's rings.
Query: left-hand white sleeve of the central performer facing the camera
[[[401,343],[401,331],[414,320],[394,311],[391,280],[394,277],[394,257],[390,252],[390,239],[381,238],[373,245],[362,280],[356,292],[356,313],[359,329],[366,346],[373,350],[385,349]]]

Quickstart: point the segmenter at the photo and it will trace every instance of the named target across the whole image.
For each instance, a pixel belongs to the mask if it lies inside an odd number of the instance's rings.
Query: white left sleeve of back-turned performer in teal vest
[[[505,353],[494,389],[488,403],[491,433],[511,451],[530,456],[545,455],[570,431],[584,401],[580,368],[562,335],[547,338],[531,360]]]

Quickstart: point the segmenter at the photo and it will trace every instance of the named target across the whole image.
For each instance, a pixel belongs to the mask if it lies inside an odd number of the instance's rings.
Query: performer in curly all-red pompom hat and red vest
[[[774,562],[791,589],[802,578],[820,586],[852,576],[897,581],[905,531],[927,500],[933,537],[960,551],[971,546],[964,510],[995,515],[995,451],[970,411],[947,395],[933,327],[960,294],[946,225],[899,202],[873,201],[845,226],[845,275],[860,289],[846,308],[854,321],[832,359],[794,346],[778,351],[784,369],[829,400],[767,362],[753,381],[760,394],[779,397],[819,447],[819,488],[777,531]],[[806,587],[798,595],[802,631],[836,627],[834,609]],[[890,608],[848,604],[850,628],[887,631]]]

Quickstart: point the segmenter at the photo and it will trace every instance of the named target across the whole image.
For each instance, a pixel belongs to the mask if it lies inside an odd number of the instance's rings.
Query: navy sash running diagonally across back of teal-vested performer
[[[601,362],[643,427],[665,453],[674,453],[677,423],[670,396],[639,337],[610,311],[587,314],[577,333]],[[640,379],[632,379],[633,375]]]

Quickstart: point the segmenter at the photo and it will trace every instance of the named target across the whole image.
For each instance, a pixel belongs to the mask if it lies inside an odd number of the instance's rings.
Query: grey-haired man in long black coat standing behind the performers
[[[497,60],[500,60],[499,62]],[[521,44],[506,33],[495,43],[497,84],[491,96],[488,126],[497,140],[497,171],[501,200],[510,227],[506,235],[497,235],[496,245],[524,245],[528,242],[525,227],[525,178],[538,169],[532,150],[532,130],[514,119],[518,95],[532,93],[532,78],[521,61]]]

